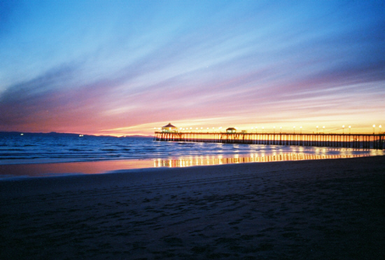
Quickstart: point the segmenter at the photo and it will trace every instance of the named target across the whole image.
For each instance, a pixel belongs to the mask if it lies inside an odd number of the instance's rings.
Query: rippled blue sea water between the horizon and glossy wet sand
[[[9,161],[89,161],[140,158],[188,158],[196,156],[304,154],[384,155],[382,150],[268,146],[262,144],[221,144],[203,142],[159,142],[151,138],[118,137],[10,137],[0,144],[0,164]]]

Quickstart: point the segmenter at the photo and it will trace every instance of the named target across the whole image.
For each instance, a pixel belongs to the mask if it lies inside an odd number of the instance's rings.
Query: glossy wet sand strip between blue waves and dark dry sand
[[[0,164],[0,182],[31,177],[59,177],[66,175],[105,174],[115,171],[152,169],[158,167],[196,167],[239,163],[269,163],[297,160],[327,160],[382,156],[375,154],[306,154],[280,153],[274,155],[189,156],[181,158],[146,158],[120,160],[94,160],[56,163]]]

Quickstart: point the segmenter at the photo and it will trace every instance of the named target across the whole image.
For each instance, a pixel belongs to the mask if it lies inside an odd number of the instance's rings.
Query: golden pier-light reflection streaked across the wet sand
[[[353,158],[363,157],[368,155],[311,155],[304,153],[280,153],[270,156],[234,156],[234,157],[222,157],[222,156],[200,156],[194,158],[183,159],[158,159],[154,160],[154,167],[188,167],[198,165],[221,165],[229,163],[266,163],[266,162],[278,162],[283,160],[320,160],[320,159],[337,159],[337,158]]]

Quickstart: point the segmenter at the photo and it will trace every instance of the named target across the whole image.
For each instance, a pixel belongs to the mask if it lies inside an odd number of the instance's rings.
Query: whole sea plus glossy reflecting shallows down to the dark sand
[[[142,167],[185,167],[225,163],[313,160],[384,155],[383,150],[261,144],[160,142],[151,137],[79,137],[78,135],[0,135],[0,175],[15,175],[9,165],[52,165],[56,173],[102,173]],[[92,163],[90,162],[99,162]],[[103,162],[103,163],[102,163]],[[61,164],[58,164],[61,163]],[[66,163],[66,164],[65,164]],[[77,163],[77,164],[76,164]],[[91,172],[76,165],[104,165]],[[8,167],[6,167],[8,165]],[[63,167],[72,165],[68,172]],[[117,165],[119,165],[117,167]],[[59,167],[60,166],[60,167]],[[20,167],[20,166],[18,166]],[[25,170],[27,166],[23,166]],[[55,170],[55,168],[57,170]],[[60,168],[60,169],[59,169]],[[91,167],[92,168],[92,167]],[[79,170],[80,169],[80,170]],[[83,170],[81,170],[83,169]],[[38,175],[35,173],[33,176]],[[22,175],[22,172],[20,172]],[[40,176],[40,175],[39,175]]]

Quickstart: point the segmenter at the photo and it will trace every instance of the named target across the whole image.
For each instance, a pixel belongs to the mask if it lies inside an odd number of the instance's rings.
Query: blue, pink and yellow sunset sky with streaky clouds
[[[0,131],[384,131],[384,46],[382,0],[0,0]]]

